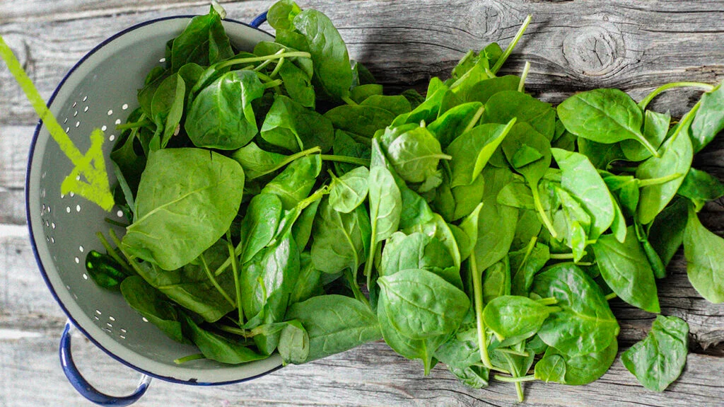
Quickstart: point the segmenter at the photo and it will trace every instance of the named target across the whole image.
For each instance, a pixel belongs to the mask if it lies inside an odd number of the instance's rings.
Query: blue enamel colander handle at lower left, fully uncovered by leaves
[[[72,324],[68,321],[65,324],[63,335],[60,337],[60,364],[63,367],[65,377],[68,378],[70,384],[75,387],[75,390],[77,390],[80,395],[100,406],[130,406],[138,401],[144,393],[146,393],[146,390],[148,390],[148,384],[151,383],[151,377],[146,374],[140,377],[136,390],[130,395],[123,397],[106,395],[91,386],[90,383],[88,383],[88,380],[86,380],[85,377],[78,372],[78,369],[73,362],[73,356],[70,352],[71,329]]]

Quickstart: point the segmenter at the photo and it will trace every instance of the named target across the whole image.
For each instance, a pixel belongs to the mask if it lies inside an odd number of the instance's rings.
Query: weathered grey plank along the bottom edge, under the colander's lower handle
[[[8,331],[0,330],[0,335]],[[78,406],[80,395],[59,367],[58,332],[12,332],[25,337],[0,339],[0,406]],[[10,335],[8,335],[10,336]],[[127,393],[136,375],[78,338],[74,356],[93,385],[111,394]],[[691,354],[686,372],[665,393],[654,393],[636,382],[616,362],[592,385],[573,387],[524,385],[527,406],[720,406],[724,384],[719,377],[724,358]],[[42,377],[43,391],[38,391]],[[486,389],[461,385],[444,366],[429,377],[422,367],[397,356],[384,343],[363,345],[302,366],[239,385],[193,387],[156,380],[141,406],[510,406],[513,385],[493,382]],[[83,404],[85,405],[85,404]]]

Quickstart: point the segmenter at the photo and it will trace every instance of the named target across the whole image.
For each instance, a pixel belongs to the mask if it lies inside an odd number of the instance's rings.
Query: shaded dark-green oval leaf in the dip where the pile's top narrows
[[[337,106],[324,114],[335,129],[371,138],[379,129],[384,129],[395,119],[395,114],[381,107],[369,104]]]

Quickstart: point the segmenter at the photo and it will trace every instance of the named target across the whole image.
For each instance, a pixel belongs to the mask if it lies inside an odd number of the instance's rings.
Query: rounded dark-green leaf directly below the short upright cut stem
[[[504,125],[514,117],[518,124],[528,123],[549,142],[552,140],[555,133],[555,110],[550,104],[518,91],[500,91],[485,102],[482,122]]]

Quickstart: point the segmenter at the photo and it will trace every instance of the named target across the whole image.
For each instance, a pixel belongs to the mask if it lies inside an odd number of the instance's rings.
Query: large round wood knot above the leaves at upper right
[[[579,74],[607,75],[619,67],[625,54],[623,36],[607,22],[576,28],[563,38],[563,56]]]

